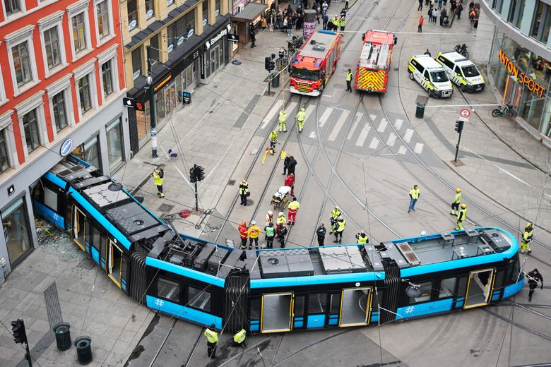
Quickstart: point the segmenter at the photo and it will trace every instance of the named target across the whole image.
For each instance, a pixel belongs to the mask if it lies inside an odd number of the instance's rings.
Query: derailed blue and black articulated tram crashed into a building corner
[[[230,332],[407,320],[506,299],[519,244],[476,228],[366,245],[241,250],[175,233],[95,167],[67,157],[33,192],[109,279],[155,311]]]

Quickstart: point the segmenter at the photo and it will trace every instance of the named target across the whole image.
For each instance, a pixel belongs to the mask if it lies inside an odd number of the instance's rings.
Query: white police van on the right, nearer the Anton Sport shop
[[[440,52],[437,62],[444,66],[451,81],[463,92],[475,92],[485,87],[484,77],[472,61],[455,51]]]

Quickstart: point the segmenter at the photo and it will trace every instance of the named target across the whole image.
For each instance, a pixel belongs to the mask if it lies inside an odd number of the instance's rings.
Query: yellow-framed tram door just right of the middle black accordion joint
[[[272,293],[262,295],[260,332],[286,332],[292,330],[292,308],[295,294]]]

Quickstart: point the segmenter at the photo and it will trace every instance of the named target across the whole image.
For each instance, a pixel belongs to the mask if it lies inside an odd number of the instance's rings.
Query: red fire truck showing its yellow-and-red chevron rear
[[[368,30],[357,62],[354,88],[367,92],[386,92],[394,35],[381,30]]]

